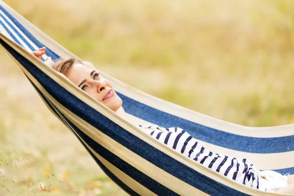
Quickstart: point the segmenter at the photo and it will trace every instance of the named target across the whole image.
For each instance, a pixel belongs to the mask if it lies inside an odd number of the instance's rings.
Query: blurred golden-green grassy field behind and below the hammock
[[[247,126],[294,123],[293,0],[5,0],[98,69]],[[0,50],[0,196],[124,196]]]

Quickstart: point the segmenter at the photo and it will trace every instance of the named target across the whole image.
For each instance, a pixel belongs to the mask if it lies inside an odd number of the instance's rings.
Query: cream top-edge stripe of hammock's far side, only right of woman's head
[[[120,82],[111,76],[102,73],[103,77],[108,79],[116,91],[126,95],[134,100],[144,103],[150,107],[160,111],[172,114],[182,119],[202,124],[207,127],[215,128],[227,133],[233,133],[249,137],[283,137],[293,135],[294,124],[273,126],[273,127],[248,127],[239,124],[225,122],[216,118],[212,118],[171,102],[153,97],[137,89],[134,89],[123,82]],[[174,125],[176,126],[176,125]]]

